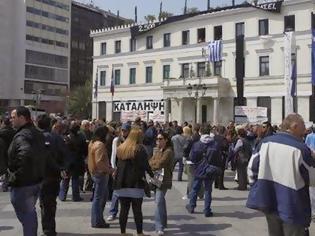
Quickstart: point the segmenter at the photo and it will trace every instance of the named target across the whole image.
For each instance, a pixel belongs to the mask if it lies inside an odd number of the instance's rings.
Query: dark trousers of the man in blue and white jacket
[[[307,230],[302,225],[283,222],[276,214],[266,214],[269,236],[306,236]]]

